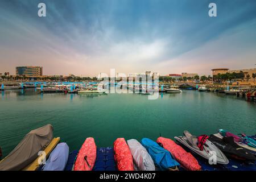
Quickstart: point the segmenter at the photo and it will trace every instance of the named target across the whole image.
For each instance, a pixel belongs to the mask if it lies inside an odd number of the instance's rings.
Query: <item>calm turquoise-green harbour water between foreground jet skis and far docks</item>
[[[39,94],[6,90],[0,96],[0,146],[7,155],[30,130],[51,123],[55,137],[79,149],[86,137],[98,147],[118,137],[174,138],[183,130],[212,134],[218,129],[256,133],[256,103],[210,92],[183,90],[148,100],[142,94]]]

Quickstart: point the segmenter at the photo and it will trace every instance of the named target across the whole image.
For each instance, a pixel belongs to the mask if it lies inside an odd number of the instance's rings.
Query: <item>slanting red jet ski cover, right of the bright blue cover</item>
[[[173,140],[169,138],[159,137],[156,140],[157,143],[163,146],[166,150],[171,152],[174,158],[183,166],[185,169],[190,171],[200,171],[201,166],[192,154],[186,152],[181,146],[177,145]]]

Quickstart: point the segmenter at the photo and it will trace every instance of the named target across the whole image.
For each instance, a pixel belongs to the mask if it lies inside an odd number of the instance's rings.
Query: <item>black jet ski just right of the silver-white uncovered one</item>
[[[233,137],[223,137],[218,138],[215,135],[210,135],[208,138],[210,142],[215,144],[224,154],[230,158],[238,159],[238,160],[256,160],[255,156],[251,154],[245,148],[238,146],[234,142]]]

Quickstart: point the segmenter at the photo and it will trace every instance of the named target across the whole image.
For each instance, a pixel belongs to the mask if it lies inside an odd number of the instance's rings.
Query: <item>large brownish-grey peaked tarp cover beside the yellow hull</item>
[[[18,171],[28,166],[37,157],[38,152],[44,150],[53,139],[52,125],[39,127],[30,131],[18,146],[0,162],[0,171]]]

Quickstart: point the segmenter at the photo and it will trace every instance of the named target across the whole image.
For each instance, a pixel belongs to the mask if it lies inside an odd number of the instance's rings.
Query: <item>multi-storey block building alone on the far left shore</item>
[[[43,76],[43,67],[16,67],[16,76],[26,76],[29,78],[40,77]]]

